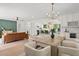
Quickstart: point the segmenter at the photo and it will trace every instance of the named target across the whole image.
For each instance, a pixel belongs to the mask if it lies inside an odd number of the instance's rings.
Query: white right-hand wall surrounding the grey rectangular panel
[[[68,14],[60,16],[59,20],[61,21],[62,28],[65,29],[67,26],[67,22],[70,21],[78,21],[79,22],[79,13]],[[70,32],[79,33],[79,28],[68,28]]]

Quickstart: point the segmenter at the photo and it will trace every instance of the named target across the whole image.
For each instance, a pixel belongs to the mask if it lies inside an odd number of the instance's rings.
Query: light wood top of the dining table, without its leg
[[[51,45],[51,46],[58,46],[59,44],[61,44],[64,38],[57,36],[54,39],[52,39],[50,36],[42,36],[42,37],[39,36],[39,37],[32,38],[32,40],[39,43]]]

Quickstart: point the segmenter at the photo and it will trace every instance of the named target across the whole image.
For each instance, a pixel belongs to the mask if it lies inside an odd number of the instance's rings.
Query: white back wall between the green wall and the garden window
[[[61,22],[58,19],[51,19],[51,18],[32,18],[32,19],[28,19],[27,18],[23,18],[20,20],[18,20],[18,24],[17,24],[17,29],[18,32],[22,32],[22,31],[29,31],[30,34],[32,35],[36,35],[37,32],[37,26],[42,27],[44,24],[48,24],[48,22],[52,22],[53,24],[60,24]]]

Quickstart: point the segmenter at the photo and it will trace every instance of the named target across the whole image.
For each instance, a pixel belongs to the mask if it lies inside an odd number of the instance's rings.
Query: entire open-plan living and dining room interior
[[[78,7],[0,3],[0,56],[79,56]]]

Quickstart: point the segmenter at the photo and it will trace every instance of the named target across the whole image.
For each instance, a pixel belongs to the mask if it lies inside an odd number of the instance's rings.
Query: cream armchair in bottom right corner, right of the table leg
[[[59,56],[79,56],[79,49],[77,48],[59,46],[58,50]]]

